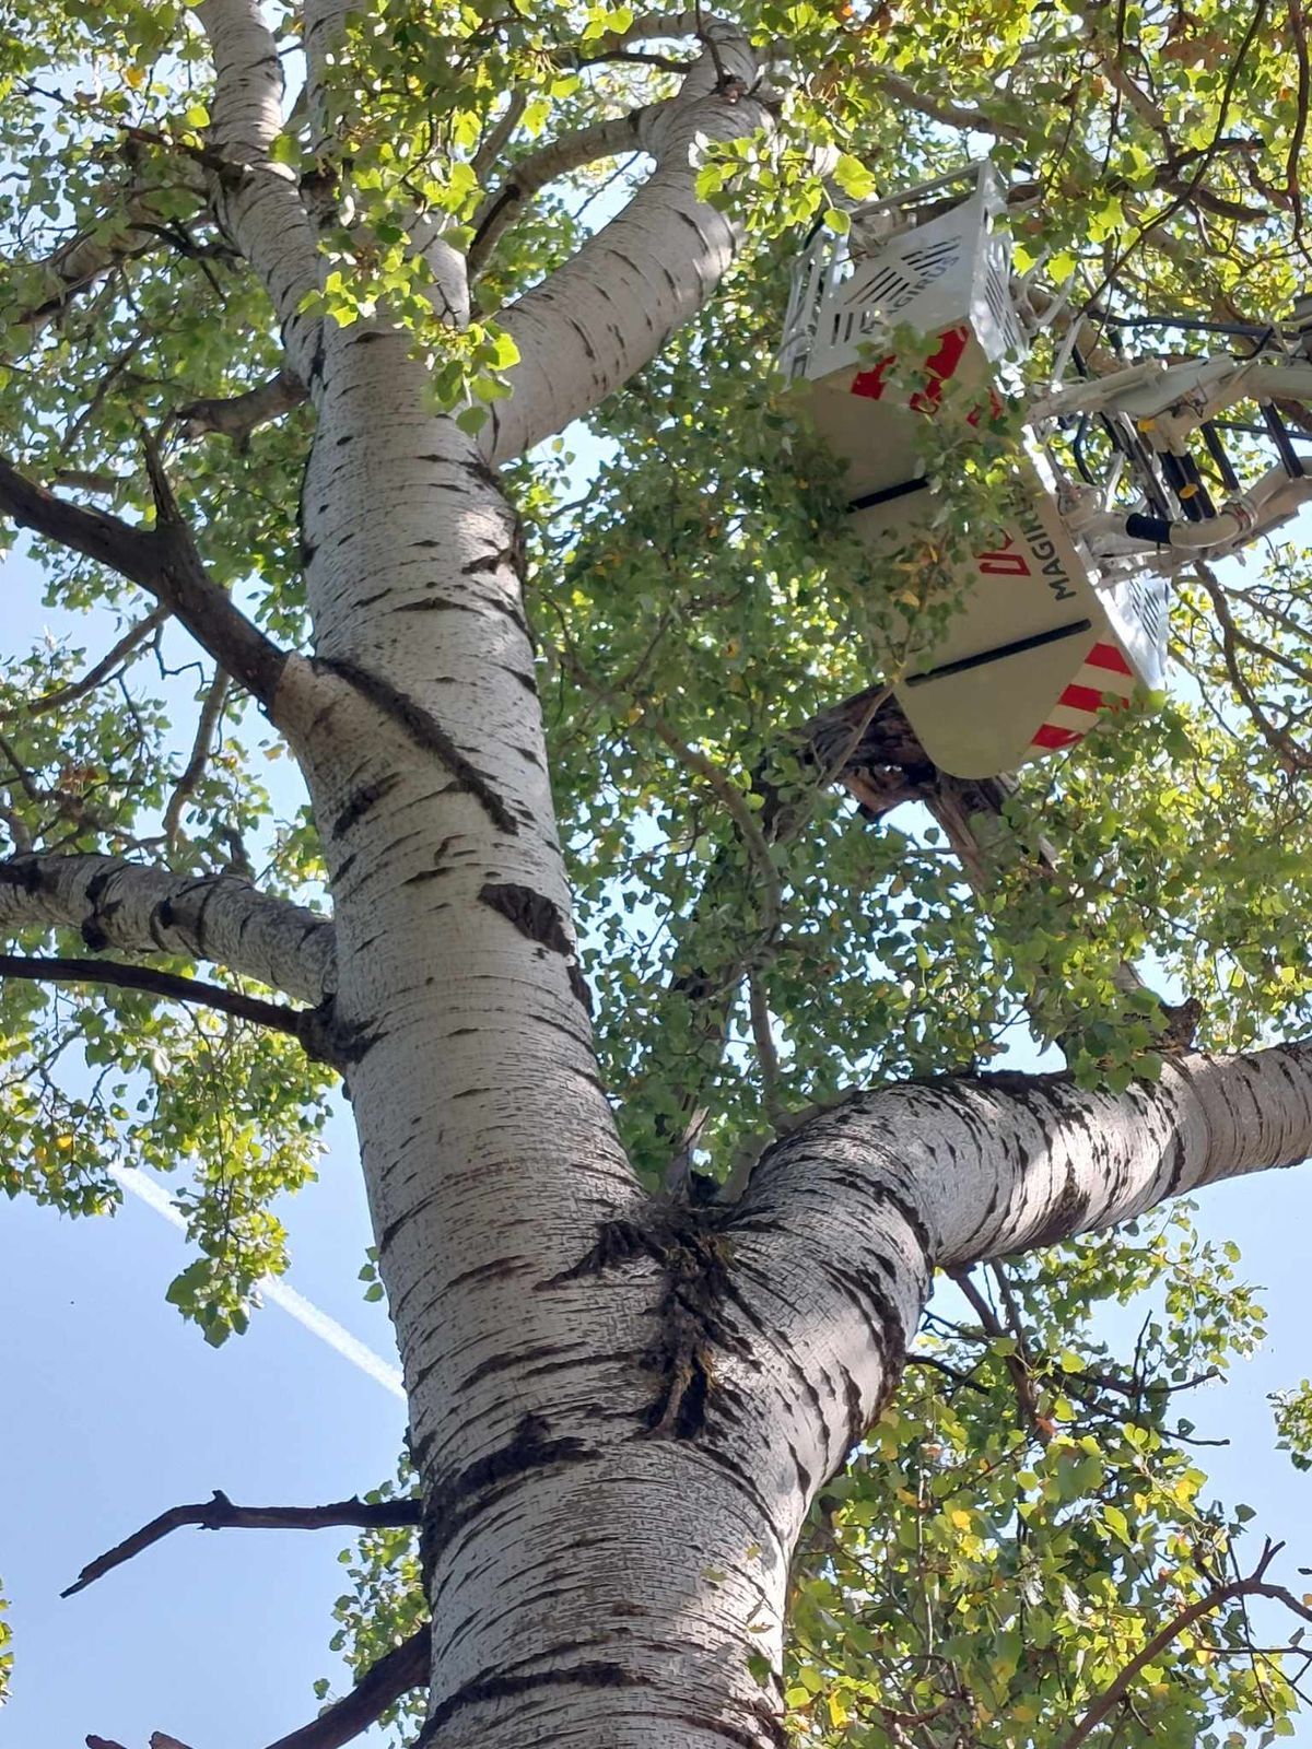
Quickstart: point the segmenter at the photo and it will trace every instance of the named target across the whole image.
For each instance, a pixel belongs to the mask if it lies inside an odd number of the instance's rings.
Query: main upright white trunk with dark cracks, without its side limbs
[[[770,1742],[747,1665],[778,1649],[768,1511],[651,1436],[677,1371],[649,1354],[677,1324],[666,1272],[577,1272],[642,1198],[572,964],[514,516],[427,411],[406,336],[331,332],[317,399],[324,701],[299,756],[425,1478],[432,1742],[722,1749],[726,1719]]]

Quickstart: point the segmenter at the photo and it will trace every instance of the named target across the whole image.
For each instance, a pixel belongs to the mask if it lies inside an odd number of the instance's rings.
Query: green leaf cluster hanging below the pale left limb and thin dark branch
[[[210,1341],[243,1329],[287,1266],[271,1205],[313,1177],[327,1072],[290,1039],[136,992],[5,979],[2,999],[0,1189],[101,1214],[121,1202],[114,1168],[182,1175],[194,1256],[168,1298]]]

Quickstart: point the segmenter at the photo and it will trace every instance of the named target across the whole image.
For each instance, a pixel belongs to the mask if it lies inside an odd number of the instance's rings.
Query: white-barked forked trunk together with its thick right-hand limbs
[[[509,313],[523,364],[492,455],[593,406],[714,285],[733,238],[696,208],[691,143],[735,107],[703,82],[628,213]],[[425,1742],[770,1749],[778,1691],[752,1665],[778,1667],[792,1543],[896,1385],[934,1265],[1184,1188],[1225,1137],[1197,1142],[1195,1069],[1102,1104],[950,1083],[817,1119],[735,1210],[644,1198],[579,999],[514,514],[423,390],[406,334],[325,332],[318,708],[290,733],[423,1480]]]

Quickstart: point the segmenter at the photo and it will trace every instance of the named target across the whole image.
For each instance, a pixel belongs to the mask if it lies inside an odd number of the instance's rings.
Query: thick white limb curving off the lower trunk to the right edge
[[[794,1459],[819,1485],[843,1462],[897,1382],[936,1268],[1309,1153],[1312,1046],[1174,1058],[1123,1095],[1044,1076],[892,1086],[812,1119],[763,1156],[728,1228],[745,1317],[792,1376],[768,1417],[775,1443],[787,1431],[775,1466]],[[726,1380],[750,1373],[729,1357]]]

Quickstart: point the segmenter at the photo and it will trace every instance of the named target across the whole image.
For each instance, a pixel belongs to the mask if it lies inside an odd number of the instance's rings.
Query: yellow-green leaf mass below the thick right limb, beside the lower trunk
[[[1156,1296],[1163,1270],[1167,1301],[1193,1312],[1149,1317],[1118,1355],[1093,1333],[1099,1301]],[[1060,1744],[1163,1621],[1247,1558],[1253,1515],[1209,1501],[1183,1392],[1260,1324],[1188,1217],[980,1286],[1006,1334],[945,1287],[903,1396],[817,1504],[785,1690],[801,1740],[885,1749],[920,1716],[932,1744]],[[1235,1679],[1244,1635],[1233,1606],[1183,1630],[1121,1735],[1184,1746],[1288,1718],[1277,1660]]]

